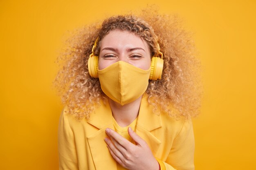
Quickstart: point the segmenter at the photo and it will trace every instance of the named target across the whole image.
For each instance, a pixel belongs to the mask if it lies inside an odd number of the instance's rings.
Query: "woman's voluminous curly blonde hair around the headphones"
[[[99,55],[104,36],[119,29],[143,38],[152,56],[157,53],[157,43],[164,54],[162,79],[149,80],[146,90],[154,112],[162,110],[176,119],[197,116],[202,98],[200,61],[196,58],[191,33],[185,31],[181,23],[177,15],[161,15],[157,10],[145,9],[136,16],[112,16],[74,31],[57,58],[61,69],[54,80],[69,113],[77,119],[88,119],[101,100],[107,102],[99,79],[89,75],[88,58],[97,38],[95,55]]]

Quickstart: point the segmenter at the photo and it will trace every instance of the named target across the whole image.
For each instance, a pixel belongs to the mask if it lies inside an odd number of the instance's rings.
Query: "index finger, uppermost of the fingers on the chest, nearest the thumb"
[[[127,139],[119,135],[117,132],[115,132],[115,130],[107,128],[106,133],[109,137],[112,137],[113,139],[115,139],[115,141],[117,141],[117,143],[123,146],[126,150],[129,147],[133,146],[133,144],[130,141],[128,141]]]

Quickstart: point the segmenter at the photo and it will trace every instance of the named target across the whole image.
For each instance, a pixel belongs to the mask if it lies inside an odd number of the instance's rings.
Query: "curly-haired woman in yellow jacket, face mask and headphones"
[[[70,39],[56,77],[60,170],[194,169],[198,61],[177,18],[153,13],[110,17]]]

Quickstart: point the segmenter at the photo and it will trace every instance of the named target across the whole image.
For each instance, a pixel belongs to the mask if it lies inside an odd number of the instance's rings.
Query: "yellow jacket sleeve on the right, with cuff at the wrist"
[[[194,170],[195,140],[191,119],[185,120],[166,161],[157,160],[161,170]]]

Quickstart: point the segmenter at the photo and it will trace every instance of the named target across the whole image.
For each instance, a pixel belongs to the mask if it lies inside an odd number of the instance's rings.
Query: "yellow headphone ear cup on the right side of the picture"
[[[157,80],[162,78],[164,60],[160,57],[152,57],[149,79]]]

